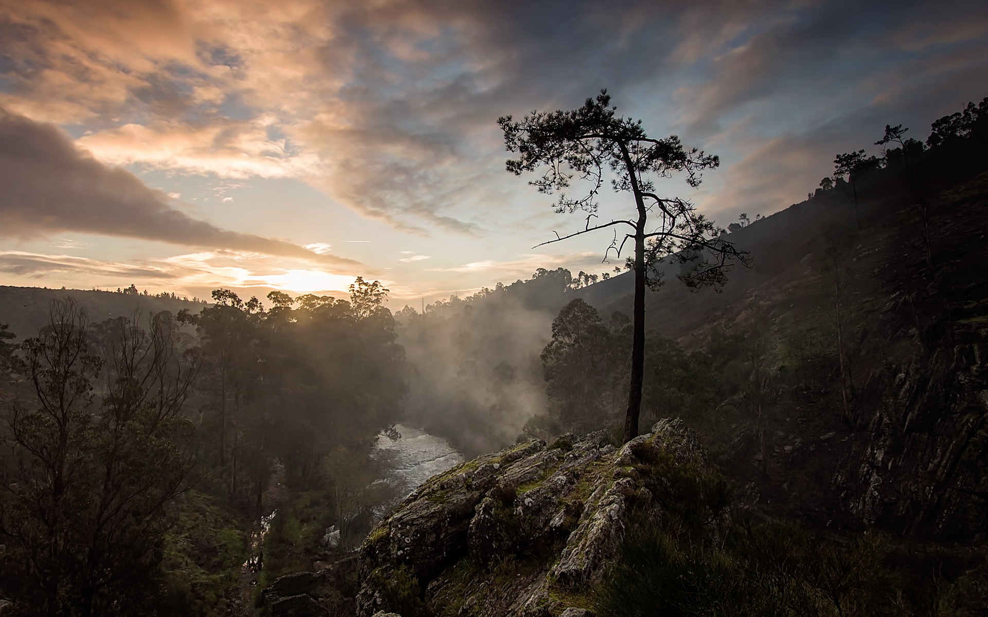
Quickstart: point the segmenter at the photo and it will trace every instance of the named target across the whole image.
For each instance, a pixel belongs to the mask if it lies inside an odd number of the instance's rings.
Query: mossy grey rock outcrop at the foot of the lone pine
[[[620,448],[567,434],[459,465],[371,531],[358,614],[591,615],[631,510],[662,508],[670,466],[715,473],[696,435],[668,420]]]

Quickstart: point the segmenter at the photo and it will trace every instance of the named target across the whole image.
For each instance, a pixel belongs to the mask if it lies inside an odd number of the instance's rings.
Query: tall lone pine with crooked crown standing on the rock
[[[498,118],[508,151],[519,158],[507,161],[507,170],[520,176],[523,172],[543,169],[540,178],[531,182],[539,193],[559,193],[555,211],[587,212],[584,229],[558,236],[542,244],[560,242],[592,231],[615,227],[615,238],[608,249],[620,256],[624,242],[631,240],[634,256],[626,267],[634,272],[633,336],[631,371],[628,383],[624,440],[638,434],[641,411],[641,386],[645,357],[645,288],[661,283],[661,266],[666,260],[691,264],[681,276],[691,286],[722,285],[725,269],[732,261],[744,262],[744,254],[719,237],[712,221],[699,214],[696,207],[680,197],[665,198],[655,193],[655,180],[686,173],[691,187],[700,185],[701,172],[719,165],[719,159],[697,148],[684,148],[679,137],[649,137],[641,121],[616,117],[611,97],[602,90],[596,99],[587,99],[578,110],[533,112],[521,121],[512,116]],[[636,216],[591,226],[596,217],[598,196],[610,176],[616,193],[631,193]],[[563,193],[574,178],[589,183],[587,193],[576,198]],[[657,210],[656,221],[649,224],[649,212]],[[618,243],[617,227],[625,233]],[[542,245],[538,245],[542,246]],[[607,254],[606,254],[607,255]]]

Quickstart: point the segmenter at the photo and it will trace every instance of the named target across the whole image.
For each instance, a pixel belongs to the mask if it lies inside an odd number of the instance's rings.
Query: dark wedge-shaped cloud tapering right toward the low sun
[[[74,231],[184,246],[253,251],[362,270],[353,260],[216,227],[166,194],[77,150],[51,124],[0,111],[0,234]],[[363,269],[366,270],[366,269]]]

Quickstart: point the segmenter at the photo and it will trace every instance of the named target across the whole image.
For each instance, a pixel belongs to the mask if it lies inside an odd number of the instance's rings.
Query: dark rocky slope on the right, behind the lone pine
[[[685,347],[733,355],[723,360],[726,372],[748,370],[761,329],[761,359],[775,371],[765,460],[754,419],[702,435],[708,446],[721,442],[718,461],[755,510],[821,526],[981,539],[988,173],[930,198],[932,268],[916,208],[887,182],[864,194],[861,230],[848,224],[846,202],[822,195],[735,232],[754,267],[732,273],[720,294],[666,285],[649,295],[649,320]],[[585,292],[602,312],[627,301],[617,278]],[[609,285],[615,293],[605,293]],[[730,337],[742,342],[716,347]],[[691,421],[695,411],[667,413]]]

